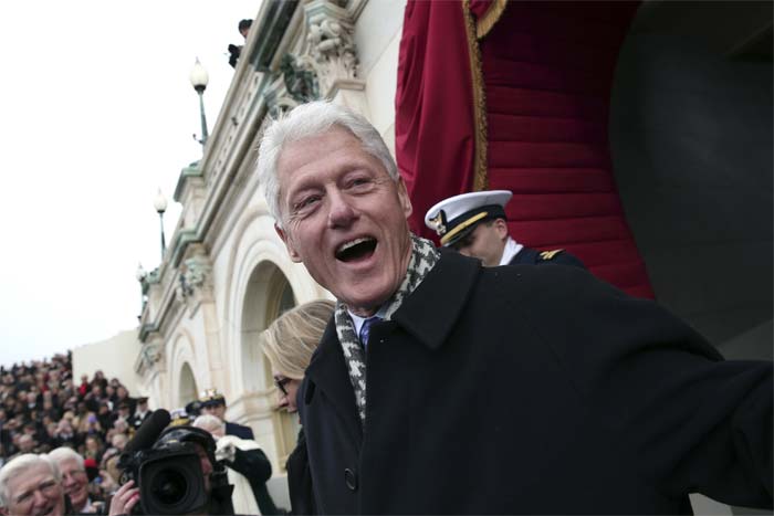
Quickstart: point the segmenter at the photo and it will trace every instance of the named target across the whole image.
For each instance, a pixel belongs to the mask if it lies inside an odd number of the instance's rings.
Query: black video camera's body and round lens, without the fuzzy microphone
[[[122,484],[139,487],[139,512],[134,514],[190,514],[209,502],[199,454],[192,443],[165,443],[160,447],[122,457]]]

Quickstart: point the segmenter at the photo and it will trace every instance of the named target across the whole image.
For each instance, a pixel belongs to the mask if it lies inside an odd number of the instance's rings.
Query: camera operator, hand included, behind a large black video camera
[[[126,445],[123,485],[109,514],[233,514],[233,487],[216,462],[212,436],[188,425],[167,428],[169,421],[169,412],[157,410]]]

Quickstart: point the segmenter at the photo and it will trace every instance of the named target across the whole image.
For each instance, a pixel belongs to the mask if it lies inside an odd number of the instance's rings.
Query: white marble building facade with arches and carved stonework
[[[227,418],[253,429],[279,475],[297,423],[274,409],[258,335],[282,309],[330,293],[290,261],[274,231],[254,173],[260,129],[299,103],[280,69],[291,55],[296,70],[314,73],[320,97],[364,113],[393,147],[405,3],[302,1],[284,25],[283,2],[261,3],[205,156],[181,171],[175,199],[182,213],[171,244],[143,282],[138,391],[154,408],[175,409],[218,388]],[[273,52],[265,50],[272,36]]]

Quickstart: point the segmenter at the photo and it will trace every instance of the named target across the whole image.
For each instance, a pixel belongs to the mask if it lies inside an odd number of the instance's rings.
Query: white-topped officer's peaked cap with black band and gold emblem
[[[443,199],[425,213],[425,225],[438,233],[441,245],[451,245],[485,220],[505,219],[510,190],[484,190]]]

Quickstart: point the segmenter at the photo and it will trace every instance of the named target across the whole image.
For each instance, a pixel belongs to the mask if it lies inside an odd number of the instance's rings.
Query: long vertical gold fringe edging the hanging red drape
[[[470,74],[473,85],[473,131],[475,134],[473,191],[481,191],[487,190],[489,186],[489,178],[487,177],[487,96],[481,71],[481,50],[477,38],[475,21],[473,20],[473,13],[470,11],[470,0],[462,0],[462,15],[464,17],[466,35],[468,36],[468,55],[470,56]]]

